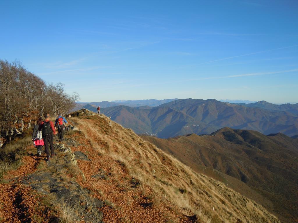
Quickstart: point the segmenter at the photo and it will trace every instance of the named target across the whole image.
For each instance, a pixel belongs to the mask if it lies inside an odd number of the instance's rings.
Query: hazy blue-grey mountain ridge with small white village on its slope
[[[292,105],[293,108],[295,106]],[[120,112],[121,109],[125,111]],[[142,110],[116,106],[103,108],[101,111],[138,134],[156,135],[160,138],[191,133],[210,134],[226,126],[256,130],[264,134],[298,134],[298,116],[291,112],[269,111],[215,99],[178,99]]]

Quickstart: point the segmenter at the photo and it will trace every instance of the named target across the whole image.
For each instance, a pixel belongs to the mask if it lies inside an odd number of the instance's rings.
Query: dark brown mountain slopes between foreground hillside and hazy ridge
[[[196,172],[259,202],[281,222],[297,222],[298,139],[231,128],[203,136],[142,137]]]

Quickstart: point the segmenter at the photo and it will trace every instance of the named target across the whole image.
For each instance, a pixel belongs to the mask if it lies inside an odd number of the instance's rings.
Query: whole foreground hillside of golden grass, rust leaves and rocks
[[[279,222],[130,129],[85,113],[73,114],[80,115],[72,120],[80,131],[66,135],[66,147],[57,145],[49,164],[28,148],[24,164],[4,175],[1,189],[10,191],[0,195],[4,221]]]

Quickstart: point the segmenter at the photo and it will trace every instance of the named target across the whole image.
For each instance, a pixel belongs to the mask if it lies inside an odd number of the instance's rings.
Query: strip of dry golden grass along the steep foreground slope
[[[149,186],[155,202],[197,218],[197,222],[279,222],[262,206],[226,187],[195,173],[176,158],[142,140],[131,129],[101,116],[75,118],[94,150],[107,159],[120,161],[129,175]]]

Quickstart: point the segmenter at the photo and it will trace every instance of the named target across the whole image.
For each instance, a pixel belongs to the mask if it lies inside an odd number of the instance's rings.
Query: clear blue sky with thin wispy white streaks
[[[298,1],[0,1],[0,58],[81,101],[298,103]]]

